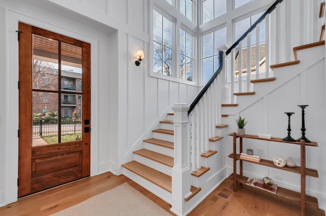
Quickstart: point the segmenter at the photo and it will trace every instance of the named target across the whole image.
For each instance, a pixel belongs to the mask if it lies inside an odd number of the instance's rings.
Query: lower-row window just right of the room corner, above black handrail
[[[219,68],[219,46],[226,44],[226,27],[203,36],[203,81]]]

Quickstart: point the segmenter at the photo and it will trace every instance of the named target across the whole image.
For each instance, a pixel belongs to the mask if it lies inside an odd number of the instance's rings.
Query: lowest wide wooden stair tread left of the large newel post
[[[159,172],[153,168],[145,166],[137,161],[131,161],[126,164],[122,164],[122,167],[130,170],[131,172],[145,178],[152,182],[156,186],[172,193],[172,178],[171,176]]]

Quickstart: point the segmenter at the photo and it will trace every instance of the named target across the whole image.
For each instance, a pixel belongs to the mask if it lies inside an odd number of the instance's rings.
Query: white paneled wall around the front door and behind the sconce
[[[121,174],[157,118],[198,91],[194,83],[150,76],[148,0],[2,1],[0,12],[0,207],[17,200],[18,21],[91,43],[91,175]],[[137,67],[140,49],[145,58]]]

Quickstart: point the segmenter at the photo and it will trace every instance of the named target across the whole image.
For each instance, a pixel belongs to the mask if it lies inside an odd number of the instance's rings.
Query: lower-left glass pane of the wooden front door
[[[33,91],[32,146],[58,143],[58,94]]]

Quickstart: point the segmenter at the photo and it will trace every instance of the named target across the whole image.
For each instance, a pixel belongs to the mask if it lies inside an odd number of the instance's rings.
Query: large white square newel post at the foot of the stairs
[[[174,104],[174,166],[172,168],[172,207],[179,216],[187,215],[184,198],[191,195],[191,167],[188,110],[186,104]]]

